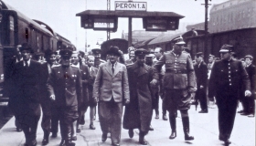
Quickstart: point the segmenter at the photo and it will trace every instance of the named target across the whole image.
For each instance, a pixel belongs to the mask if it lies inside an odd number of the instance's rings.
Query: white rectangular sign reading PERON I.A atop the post
[[[115,10],[146,11],[146,2],[115,1]]]

